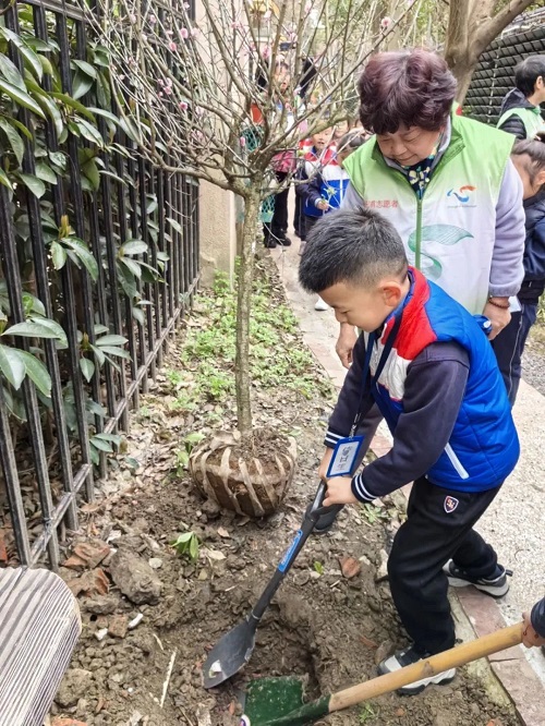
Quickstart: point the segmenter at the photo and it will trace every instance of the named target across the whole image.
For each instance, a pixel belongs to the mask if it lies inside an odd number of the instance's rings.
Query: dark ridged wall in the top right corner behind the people
[[[506,94],[513,87],[514,66],[528,56],[545,53],[545,11],[497,38],[482,55],[465,97],[464,110],[484,123],[496,124]]]

